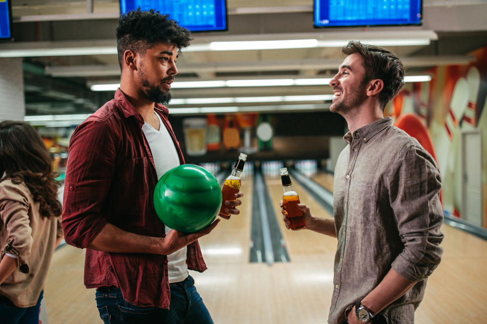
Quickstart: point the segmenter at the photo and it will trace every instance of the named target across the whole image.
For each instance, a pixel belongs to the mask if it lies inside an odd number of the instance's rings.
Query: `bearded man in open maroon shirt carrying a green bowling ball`
[[[168,16],[123,14],[115,30],[120,88],[76,127],[67,163],[62,226],[86,248],[84,283],[96,288],[110,323],[213,323],[187,269],[206,269],[197,239],[218,224],[182,233],[157,217],[157,180],[184,164],[168,122],[176,58],[190,32]],[[237,215],[235,194],[228,210]]]

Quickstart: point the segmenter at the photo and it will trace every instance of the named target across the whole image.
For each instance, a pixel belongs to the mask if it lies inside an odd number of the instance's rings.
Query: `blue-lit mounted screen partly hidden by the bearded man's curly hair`
[[[120,12],[154,9],[191,32],[226,31],[225,0],[120,0]]]

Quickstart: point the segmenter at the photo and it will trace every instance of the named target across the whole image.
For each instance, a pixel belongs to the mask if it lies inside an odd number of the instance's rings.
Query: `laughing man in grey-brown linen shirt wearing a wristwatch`
[[[350,131],[335,168],[334,218],[312,216],[298,205],[305,229],[338,239],[328,323],[413,323],[443,252],[438,167],[414,138],[383,117],[403,85],[397,56],[358,42],[342,54],[346,58],[329,83],[335,93],[330,110],[345,118]],[[282,214],[289,228],[284,209]]]

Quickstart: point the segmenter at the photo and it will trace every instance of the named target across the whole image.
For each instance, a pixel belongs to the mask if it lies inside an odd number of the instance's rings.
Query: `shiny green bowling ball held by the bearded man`
[[[221,188],[207,170],[192,164],[172,168],[157,181],[154,207],[160,220],[184,233],[199,231],[216,218]]]

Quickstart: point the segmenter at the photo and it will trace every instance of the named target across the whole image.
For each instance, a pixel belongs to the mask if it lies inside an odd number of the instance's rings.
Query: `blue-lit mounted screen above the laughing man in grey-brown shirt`
[[[314,0],[314,26],[420,25],[421,10],[421,0]]]

